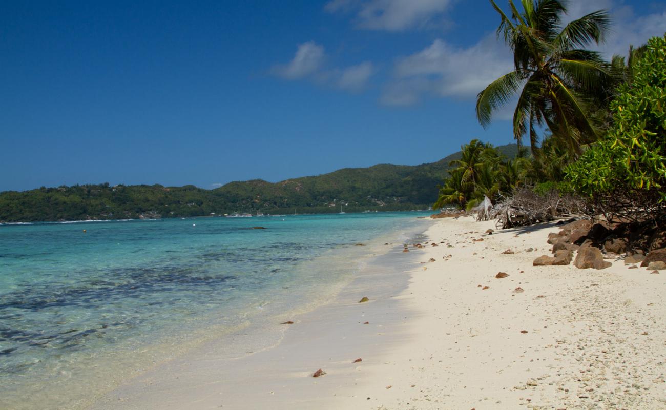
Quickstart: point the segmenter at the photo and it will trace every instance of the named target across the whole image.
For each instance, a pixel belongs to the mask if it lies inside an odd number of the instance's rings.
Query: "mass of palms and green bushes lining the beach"
[[[514,69],[478,94],[478,119],[488,125],[517,95],[513,136],[520,143],[529,135],[532,155],[498,161],[490,145],[473,140],[452,162],[434,207],[470,209],[485,197],[496,203],[529,191],[581,195],[581,209],[609,219],[666,223],[666,39],[605,62],[581,48],[603,41],[604,11],[562,25],[565,1],[521,0],[519,10],[509,0],[510,17],[490,3]]]

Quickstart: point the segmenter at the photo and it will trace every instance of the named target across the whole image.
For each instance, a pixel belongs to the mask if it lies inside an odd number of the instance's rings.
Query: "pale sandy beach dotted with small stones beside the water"
[[[386,247],[333,303],[285,318],[275,347],[210,343],[92,408],[666,409],[666,271],[533,267],[557,227],[494,225],[439,219],[423,248]]]

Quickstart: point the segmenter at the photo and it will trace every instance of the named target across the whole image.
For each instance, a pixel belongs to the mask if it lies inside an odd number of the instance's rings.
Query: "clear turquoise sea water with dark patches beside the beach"
[[[424,215],[1,225],[0,407],[84,407],[192,343],[308,309]]]

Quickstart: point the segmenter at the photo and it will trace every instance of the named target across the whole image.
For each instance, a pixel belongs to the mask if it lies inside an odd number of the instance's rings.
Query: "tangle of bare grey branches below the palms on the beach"
[[[585,202],[575,195],[560,195],[555,190],[539,195],[530,187],[521,187],[513,195],[501,196],[486,220],[497,219],[496,226],[506,229],[581,215],[585,211]]]

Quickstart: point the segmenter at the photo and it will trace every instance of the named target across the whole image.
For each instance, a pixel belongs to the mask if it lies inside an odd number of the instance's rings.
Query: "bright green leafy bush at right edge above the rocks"
[[[599,143],[567,167],[576,191],[588,197],[653,194],[666,199],[666,38],[654,37],[619,88],[613,124]],[[641,207],[648,204],[635,203]]]

